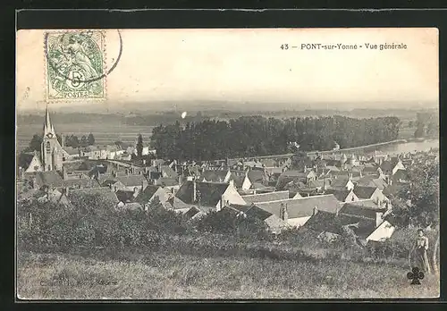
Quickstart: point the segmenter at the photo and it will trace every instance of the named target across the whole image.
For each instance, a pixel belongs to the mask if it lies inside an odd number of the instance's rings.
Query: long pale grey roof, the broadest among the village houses
[[[313,214],[314,207],[318,210],[335,213],[340,204],[337,198],[333,195],[313,196],[307,198],[289,198],[283,200],[276,200],[272,202],[257,203],[257,206],[280,216],[280,209],[282,204],[287,204],[287,212],[289,218],[306,217]]]

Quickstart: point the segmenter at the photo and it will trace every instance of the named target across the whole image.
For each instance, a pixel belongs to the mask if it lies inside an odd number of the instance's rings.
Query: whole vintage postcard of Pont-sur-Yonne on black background
[[[438,30],[21,29],[16,294],[438,298]]]

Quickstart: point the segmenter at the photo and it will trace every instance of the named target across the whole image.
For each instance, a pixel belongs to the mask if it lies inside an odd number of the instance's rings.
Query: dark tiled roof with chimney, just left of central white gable
[[[175,194],[176,198],[180,198],[186,204],[196,204],[193,202],[193,181],[185,181],[181,188]],[[196,182],[196,198],[200,198],[200,205],[216,206],[222,199],[223,193],[229,187],[228,183],[220,182]]]

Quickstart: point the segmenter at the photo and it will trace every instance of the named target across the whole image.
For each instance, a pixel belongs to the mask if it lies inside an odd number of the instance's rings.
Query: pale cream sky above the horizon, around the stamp
[[[17,33],[16,106],[46,106],[45,29]],[[105,63],[120,50],[117,29],[105,33]],[[142,108],[163,102],[255,109],[294,105],[405,108],[438,105],[437,29],[120,29],[122,55],[106,77],[106,99],[49,101],[55,108]],[[302,44],[357,45],[307,50]],[[405,44],[407,49],[365,45]],[[288,44],[289,49],[281,46]],[[292,48],[291,46],[298,46]],[[189,104],[190,103],[190,104]],[[220,104],[216,104],[220,103]],[[221,106],[216,106],[221,105]],[[169,107],[171,108],[171,107]]]

